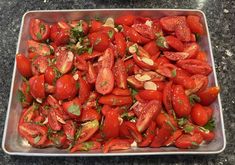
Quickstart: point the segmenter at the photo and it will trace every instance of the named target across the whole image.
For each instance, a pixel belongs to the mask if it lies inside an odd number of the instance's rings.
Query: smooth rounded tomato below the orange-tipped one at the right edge
[[[207,111],[200,104],[195,104],[192,107],[191,117],[194,123],[199,126],[204,126],[208,122]]]

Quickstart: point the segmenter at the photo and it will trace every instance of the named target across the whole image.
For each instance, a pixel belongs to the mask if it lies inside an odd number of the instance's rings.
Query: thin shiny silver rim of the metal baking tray
[[[202,14],[204,21],[205,21],[205,28],[208,34],[208,46],[209,46],[209,51],[211,53],[211,65],[213,68],[213,74],[214,74],[214,79],[215,79],[215,85],[218,86],[218,80],[217,80],[217,74],[215,70],[215,62],[214,62],[214,55],[212,51],[212,46],[211,46],[211,39],[210,39],[210,32],[208,28],[208,23],[207,23],[207,18],[205,13],[202,10],[199,9],[172,9],[172,8],[100,8],[100,9],[62,9],[62,10],[29,10],[25,12],[22,16],[21,20],[21,26],[20,26],[20,32],[18,35],[18,41],[17,41],[17,48],[16,48],[16,54],[19,51],[19,45],[20,45],[20,38],[22,36],[22,31],[23,31],[23,22],[25,17],[30,14],[30,13],[43,13],[43,12],[80,12],[80,11],[182,11],[182,12],[198,12]],[[203,155],[203,154],[219,154],[223,152],[226,148],[226,136],[225,136],[225,128],[224,128],[224,119],[223,119],[223,109],[222,109],[222,103],[221,103],[221,98],[220,94],[218,95],[218,106],[219,106],[219,114],[220,114],[220,119],[221,119],[221,132],[222,132],[222,139],[223,139],[223,144],[222,147],[218,150],[215,151],[162,151],[162,152],[119,152],[119,153],[28,153],[28,152],[15,152],[15,151],[8,151],[5,148],[5,142],[6,142],[6,133],[7,133],[7,128],[9,124],[9,114],[10,114],[10,106],[12,102],[12,95],[13,95],[13,88],[14,88],[14,82],[15,82],[15,74],[16,74],[16,59],[14,60],[14,68],[13,68],[13,74],[12,74],[12,82],[11,82],[11,88],[10,88],[10,95],[9,95],[9,101],[8,101],[8,107],[7,107],[7,113],[6,113],[6,119],[5,119],[5,124],[4,124],[4,131],[3,131],[3,137],[2,137],[2,149],[3,151],[8,154],[8,155],[17,155],[17,156],[60,156],[60,157],[94,157],[94,156],[138,156],[138,155]]]

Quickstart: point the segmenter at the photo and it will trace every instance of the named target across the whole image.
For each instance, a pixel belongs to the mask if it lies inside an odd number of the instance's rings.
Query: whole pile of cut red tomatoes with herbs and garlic
[[[198,16],[31,19],[29,27],[28,51],[16,55],[18,131],[33,147],[106,153],[213,140],[219,88],[208,87]]]

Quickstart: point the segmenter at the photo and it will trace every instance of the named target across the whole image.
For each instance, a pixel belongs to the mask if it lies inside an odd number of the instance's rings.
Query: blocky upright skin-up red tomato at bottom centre
[[[119,114],[117,111],[111,109],[105,114],[102,132],[106,139],[115,138],[119,135]]]

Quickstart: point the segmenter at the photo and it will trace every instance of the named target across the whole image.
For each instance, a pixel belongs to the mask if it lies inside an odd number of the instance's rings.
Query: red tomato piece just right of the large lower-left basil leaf
[[[79,117],[79,121],[86,122],[89,120],[100,120],[101,116],[97,110],[86,108],[83,109],[81,116]]]

